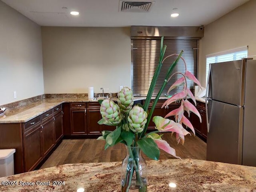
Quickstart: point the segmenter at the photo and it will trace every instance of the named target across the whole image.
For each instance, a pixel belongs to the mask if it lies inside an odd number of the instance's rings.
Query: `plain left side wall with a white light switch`
[[[41,94],[40,26],[0,1],[0,105]]]

